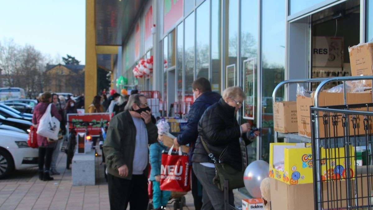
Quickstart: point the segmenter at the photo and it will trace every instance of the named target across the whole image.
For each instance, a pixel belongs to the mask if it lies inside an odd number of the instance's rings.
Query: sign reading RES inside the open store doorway
[[[313,67],[343,66],[343,37],[322,37],[312,39]]]

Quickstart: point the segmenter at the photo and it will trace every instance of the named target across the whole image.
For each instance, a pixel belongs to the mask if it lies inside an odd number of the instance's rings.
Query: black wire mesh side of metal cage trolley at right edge
[[[311,107],[315,209],[373,209],[372,107]]]

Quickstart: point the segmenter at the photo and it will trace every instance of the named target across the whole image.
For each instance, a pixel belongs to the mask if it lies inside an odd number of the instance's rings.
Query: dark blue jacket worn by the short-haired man
[[[205,110],[219,101],[222,98],[219,93],[216,92],[204,92],[198,97],[194,103],[190,106],[189,114],[187,116],[188,123],[182,134],[178,136],[178,143],[180,145],[189,144],[189,160],[192,159],[195,141],[198,137],[198,121],[200,121],[201,116]]]

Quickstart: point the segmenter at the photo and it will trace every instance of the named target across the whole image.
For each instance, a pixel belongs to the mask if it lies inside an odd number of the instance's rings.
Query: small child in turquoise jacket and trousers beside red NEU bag
[[[162,151],[167,147],[158,139],[157,143],[152,143],[149,146],[150,159],[150,181],[153,182],[153,208],[156,210],[165,209],[167,202],[171,196],[171,191],[164,191],[159,188],[160,181],[160,167],[162,160]]]

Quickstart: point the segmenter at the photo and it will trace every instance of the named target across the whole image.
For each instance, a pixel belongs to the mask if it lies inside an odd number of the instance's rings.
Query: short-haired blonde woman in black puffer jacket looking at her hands
[[[239,138],[242,136],[246,144],[249,144],[259,135],[254,132],[254,137],[248,139],[242,135],[250,131],[251,125],[244,123],[241,126],[236,120],[236,113],[241,108],[245,94],[239,87],[228,87],[223,91],[223,97],[219,102],[206,109],[198,123],[198,139],[192,157],[193,170],[203,186],[202,210],[224,209],[224,192],[213,183],[215,167],[201,142],[201,136],[207,148],[218,160],[225,150],[221,163],[227,163],[236,170],[242,169],[242,156]],[[212,202],[213,201],[213,202]],[[229,191],[229,203],[233,205],[233,192]]]

